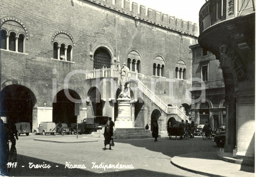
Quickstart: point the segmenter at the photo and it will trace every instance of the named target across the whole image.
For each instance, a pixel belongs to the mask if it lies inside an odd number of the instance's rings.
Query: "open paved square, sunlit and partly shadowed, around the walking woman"
[[[76,137],[76,135],[65,135]],[[82,137],[80,135],[79,137]],[[163,136],[163,135],[161,135]],[[61,136],[56,136],[61,137]],[[55,138],[51,135],[20,136],[16,143],[17,167],[10,176],[202,176],[173,166],[173,156],[192,152],[219,151],[211,140],[202,137],[177,140],[165,136],[154,139],[116,140],[113,150],[103,150],[104,140],[87,143],[54,143],[34,141],[34,138]],[[107,145],[107,148],[109,146]],[[65,164],[84,164],[86,169],[68,169]],[[47,164],[51,168],[29,168],[29,163]],[[132,165],[133,169],[95,169],[93,164],[119,163]],[[197,165],[197,164],[191,164]],[[22,167],[24,166],[24,167]]]

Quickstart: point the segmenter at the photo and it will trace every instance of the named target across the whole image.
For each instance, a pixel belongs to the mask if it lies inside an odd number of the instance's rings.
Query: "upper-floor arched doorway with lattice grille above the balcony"
[[[103,67],[110,68],[111,55],[105,47],[99,47],[94,52],[93,68],[102,69]]]

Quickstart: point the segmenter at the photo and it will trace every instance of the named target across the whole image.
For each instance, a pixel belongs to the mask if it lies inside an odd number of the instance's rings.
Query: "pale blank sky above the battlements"
[[[205,0],[130,0],[147,8],[198,24],[198,13]]]

